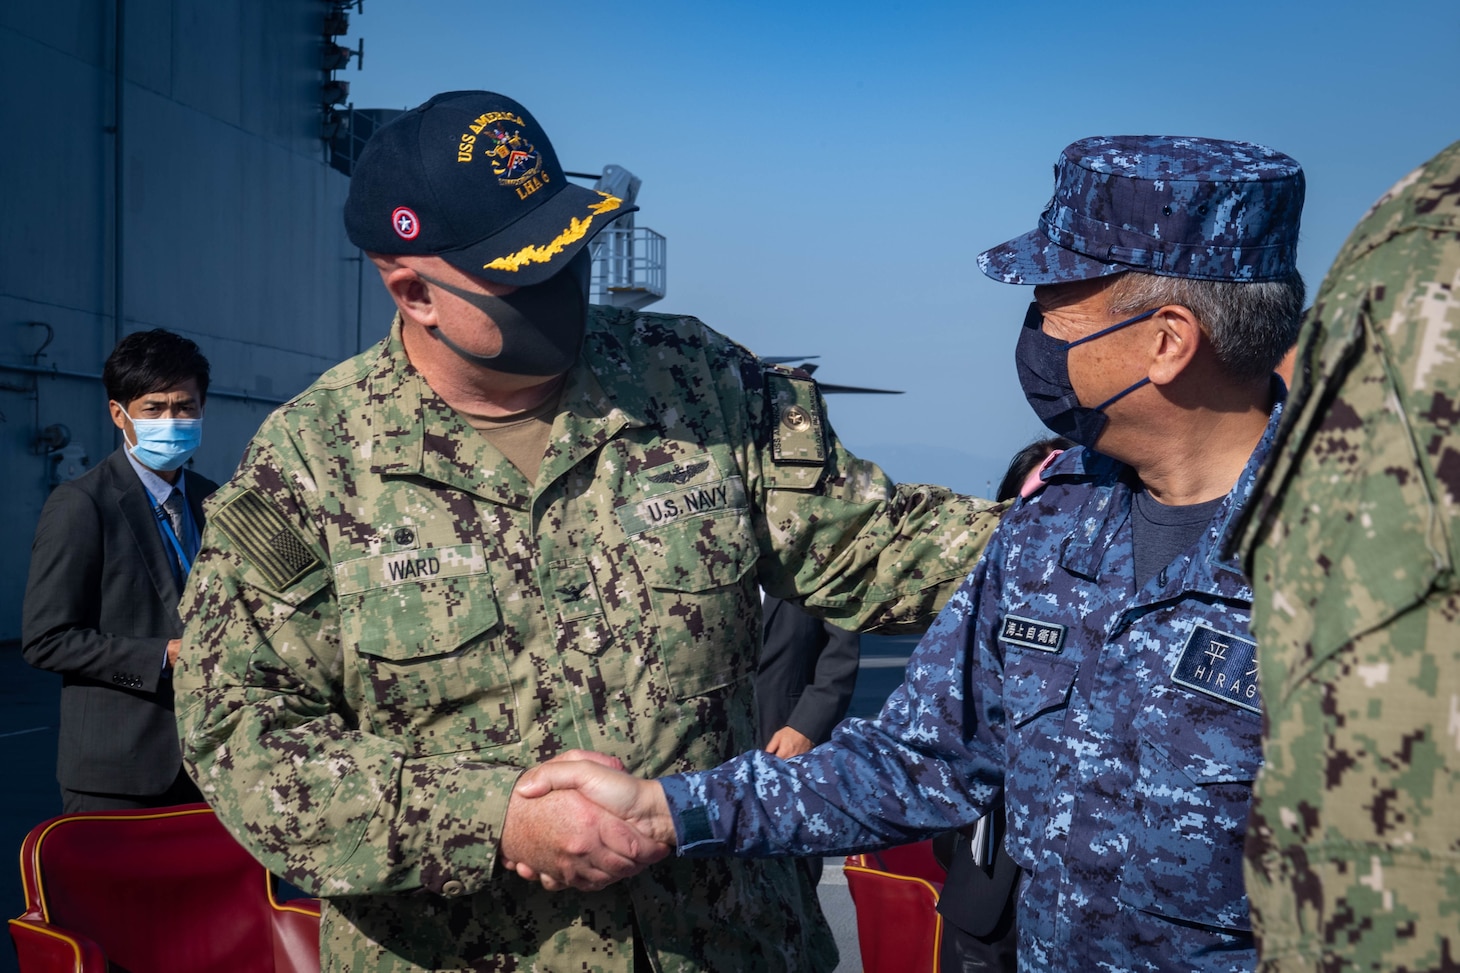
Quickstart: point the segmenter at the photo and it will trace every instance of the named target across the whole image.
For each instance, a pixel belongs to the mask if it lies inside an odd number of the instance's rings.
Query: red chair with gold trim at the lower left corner
[[[20,846],[20,973],[320,969],[318,900],[279,901],[204,804],[42,821]]]

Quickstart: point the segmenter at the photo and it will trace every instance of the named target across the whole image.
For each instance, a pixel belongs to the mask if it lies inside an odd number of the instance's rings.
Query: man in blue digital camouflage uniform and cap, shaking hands
[[[876,719],[793,761],[628,785],[550,764],[682,855],[842,853],[1003,801],[1022,970],[1250,970],[1251,589],[1221,542],[1282,412],[1304,178],[1242,142],[1085,139],[983,270],[1032,283],[1016,367],[1080,447],[1015,503]]]

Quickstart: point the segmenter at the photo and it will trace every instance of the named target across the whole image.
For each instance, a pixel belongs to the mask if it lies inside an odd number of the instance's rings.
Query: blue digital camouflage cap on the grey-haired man
[[[1251,142],[1101,136],[1054,164],[1038,229],[978,254],[1004,283],[1124,270],[1199,281],[1276,281],[1296,269],[1302,168]]]

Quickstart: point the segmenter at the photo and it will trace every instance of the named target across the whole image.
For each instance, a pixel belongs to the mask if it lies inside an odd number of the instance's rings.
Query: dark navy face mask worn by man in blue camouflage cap
[[[1161,308],[1152,308],[1145,314],[1126,318],[1117,324],[1101,329],[1094,335],[1086,335],[1076,342],[1061,342],[1044,333],[1044,314],[1038,304],[1031,304],[1023,316],[1023,327],[1019,330],[1019,343],[1013,351],[1015,368],[1019,371],[1019,386],[1023,397],[1029,400],[1029,408],[1040,416],[1051,432],[1073,440],[1086,449],[1095,449],[1095,441],[1105,431],[1105,409],[1120,402],[1140,386],[1150,381],[1145,377],[1124,392],[1117,392],[1094,409],[1082,406],[1070,384],[1070,349],[1096,337],[1104,337],[1111,332],[1118,332],[1136,321],[1143,321]]]

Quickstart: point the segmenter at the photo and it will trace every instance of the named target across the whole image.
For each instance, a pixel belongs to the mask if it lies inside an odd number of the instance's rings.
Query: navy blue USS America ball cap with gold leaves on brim
[[[537,120],[486,91],[437,95],[361,152],[345,229],[361,250],[441,257],[496,283],[540,283],[637,206],[571,184]]]

